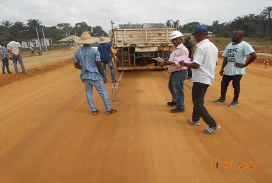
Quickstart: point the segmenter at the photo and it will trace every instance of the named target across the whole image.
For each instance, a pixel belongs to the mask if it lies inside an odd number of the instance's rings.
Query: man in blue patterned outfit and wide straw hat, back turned
[[[83,47],[75,53],[75,68],[81,70],[81,81],[85,83],[85,91],[88,104],[93,115],[97,115],[99,110],[95,107],[93,98],[93,86],[103,99],[106,107],[106,114],[115,113],[115,109],[110,108],[107,90],[103,83],[103,68],[100,61],[98,50],[90,47],[90,43],[98,40],[97,37],[92,37],[88,32],[83,32],[80,37],[75,39],[75,42],[82,43]]]

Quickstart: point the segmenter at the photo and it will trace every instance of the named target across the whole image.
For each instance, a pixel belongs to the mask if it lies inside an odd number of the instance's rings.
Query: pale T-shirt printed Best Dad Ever
[[[238,68],[235,63],[243,63],[246,60],[246,56],[255,52],[250,44],[245,41],[239,44],[232,45],[233,42],[229,43],[222,56],[226,57],[227,64],[224,71],[224,75],[234,76],[237,74],[245,74],[245,67]]]

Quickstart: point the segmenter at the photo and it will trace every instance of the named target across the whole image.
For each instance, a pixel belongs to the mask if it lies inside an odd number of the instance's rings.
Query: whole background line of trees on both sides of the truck
[[[259,14],[248,14],[245,16],[238,16],[233,21],[222,22],[214,20],[212,25],[207,25],[209,30],[217,37],[231,37],[234,30],[244,30],[246,37],[270,37],[272,39],[271,25],[271,13],[272,7],[267,6]],[[195,26],[200,22],[189,22],[183,26],[179,26],[178,29],[183,33],[191,33],[194,31]],[[167,20],[165,27],[177,27],[178,21]],[[69,23],[60,23],[56,26],[46,27],[42,25],[42,22],[38,19],[30,18],[27,20],[27,24],[24,22],[9,20],[3,20],[0,22],[0,41],[8,42],[10,37],[16,41],[29,40],[36,38],[36,28],[39,37],[42,37],[41,28],[43,28],[44,36],[53,38],[53,42],[62,39],[69,35],[80,36],[82,32],[88,31],[90,35],[99,37],[107,36],[107,33],[101,26],[91,27],[86,22],[78,22],[75,26]]]

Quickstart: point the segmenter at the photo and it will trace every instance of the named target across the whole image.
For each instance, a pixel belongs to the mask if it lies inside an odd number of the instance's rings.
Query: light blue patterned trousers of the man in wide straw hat
[[[93,86],[95,86],[99,95],[103,99],[104,105],[106,107],[106,111],[109,111],[111,108],[110,108],[107,90],[105,88],[103,80],[84,79],[84,83],[85,83],[85,91],[86,91],[86,96],[87,96],[90,110],[95,111],[97,109],[94,103],[94,98],[93,98]]]

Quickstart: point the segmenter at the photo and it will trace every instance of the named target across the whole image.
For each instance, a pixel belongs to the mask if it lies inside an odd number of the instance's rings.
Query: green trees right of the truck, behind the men
[[[245,32],[246,37],[270,37],[272,39],[271,14],[272,7],[267,6],[259,15],[251,13],[244,16],[238,16],[233,21],[222,23],[218,20],[214,20],[212,25],[207,25],[207,27],[217,37],[231,37],[233,31],[239,29]],[[177,24],[177,21],[167,20],[165,26],[176,27],[175,24]],[[194,21],[179,26],[178,28],[182,33],[191,33],[197,25],[200,25],[200,22]]]

